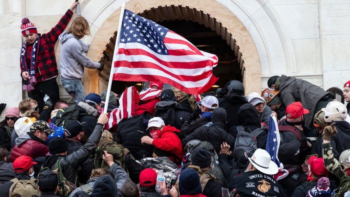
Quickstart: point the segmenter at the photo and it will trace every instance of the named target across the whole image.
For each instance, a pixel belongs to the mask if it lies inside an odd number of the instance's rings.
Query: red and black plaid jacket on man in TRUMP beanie
[[[59,20],[58,24],[46,34],[41,35],[38,56],[36,58],[35,78],[36,82],[42,82],[45,79],[49,79],[58,76],[56,56],[55,56],[55,42],[58,40],[58,36],[62,34],[67,27],[73,12],[68,9],[67,12]],[[30,65],[31,49],[33,45],[27,45],[26,61],[27,65]],[[22,77],[22,64],[21,77]]]

